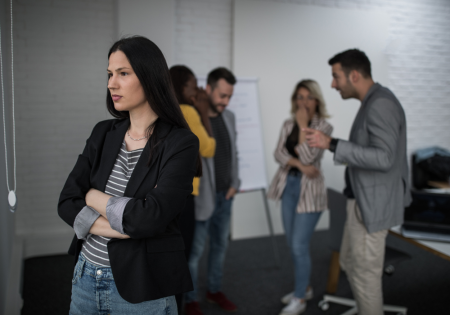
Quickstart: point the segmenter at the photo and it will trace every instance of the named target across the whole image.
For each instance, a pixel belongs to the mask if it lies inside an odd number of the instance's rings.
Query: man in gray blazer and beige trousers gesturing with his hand
[[[331,138],[305,128],[311,147],[334,152],[345,169],[347,219],[340,248],[340,265],[346,272],[360,315],[381,315],[381,276],[387,230],[403,222],[409,205],[406,161],[406,120],[398,99],[371,77],[364,52],[350,49],[328,61],[331,87],[342,98],[361,101],[349,140]],[[303,130],[303,129],[302,129]]]

